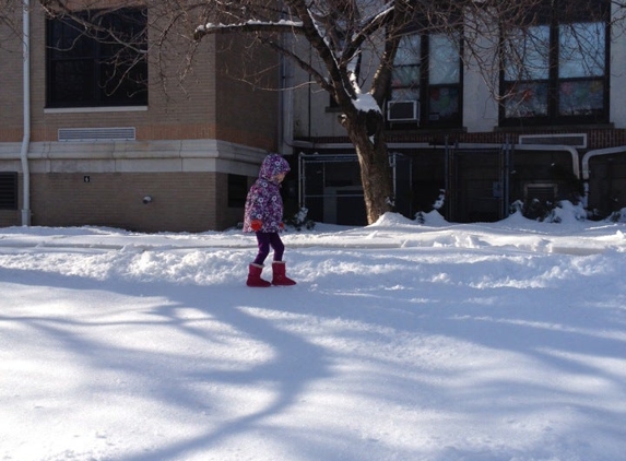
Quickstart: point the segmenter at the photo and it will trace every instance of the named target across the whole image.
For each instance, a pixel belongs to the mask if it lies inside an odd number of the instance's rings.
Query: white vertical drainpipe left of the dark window
[[[23,181],[23,206],[22,225],[31,225],[31,170],[28,168],[28,147],[31,145],[31,4],[29,0],[24,0],[22,12],[23,28],[23,86],[24,86],[24,138],[22,139],[22,181]]]

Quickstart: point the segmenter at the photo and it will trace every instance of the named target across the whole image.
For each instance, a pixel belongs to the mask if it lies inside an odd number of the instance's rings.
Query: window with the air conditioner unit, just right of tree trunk
[[[460,127],[460,56],[457,37],[447,34],[404,36],[393,62],[388,121],[393,125],[416,122],[422,127]],[[397,114],[393,111],[395,107]]]

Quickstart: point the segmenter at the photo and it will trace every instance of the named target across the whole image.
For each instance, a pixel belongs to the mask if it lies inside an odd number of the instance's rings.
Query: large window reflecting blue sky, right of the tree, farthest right
[[[504,37],[500,125],[609,121],[609,10],[557,0]]]

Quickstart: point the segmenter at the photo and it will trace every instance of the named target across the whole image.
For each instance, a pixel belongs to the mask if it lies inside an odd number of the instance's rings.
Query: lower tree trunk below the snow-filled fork
[[[356,150],[367,223],[373,224],[393,210],[394,201],[385,122],[381,114],[370,110],[345,114],[342,125]]]

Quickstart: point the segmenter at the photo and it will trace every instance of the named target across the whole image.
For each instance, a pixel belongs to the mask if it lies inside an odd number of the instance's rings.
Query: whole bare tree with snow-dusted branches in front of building
[[[492,75],[499,68],[496,49],[503,40],[501,31],[523,24],[528,9],[541,2],[284,0],[284,8],[276,10],[273,1],[213,1],[206,3],[205,24],[197,28],[196,38],[206,34],[253,34],[306,70],[332,95],[342,113],[339,121],[356,150],[367,220],[373,223],[393,209],[382,108],[402,37],[416,32],[446,34],[464,44],[464,59],[473,59],[485,75]],[[297,47],[285,46],[276,36],[287,33],[304,39],[315,50],[318,62],[300,58]],[[366,55],[375,59],[365,63]],[[495,86],[489,78],[485,81]]]

